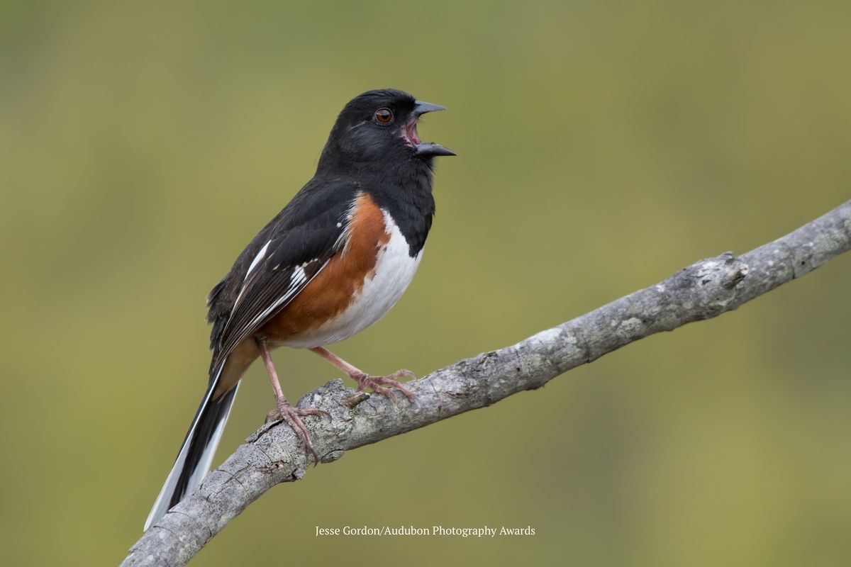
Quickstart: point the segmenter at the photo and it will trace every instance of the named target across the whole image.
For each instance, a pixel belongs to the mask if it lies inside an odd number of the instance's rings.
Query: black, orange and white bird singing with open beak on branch
[[[310,349],[354,378],[359,390],[389,396],[395,388],[413,400],[398,382],[409,371],[370,376],[324,347],[379,320],[414,277],[434,215],[432,160],[455,155],[421,142],[417,119],[443,110],[392,89],[352,99],[337,116],[313,179],[214,286],[207,300],[213,325],[207,392],[146,530],[201,484],[239,381],[257,358],[269,373],[277,417],[318,460],[300,417],[325,412],[289,405],[270,349]]]

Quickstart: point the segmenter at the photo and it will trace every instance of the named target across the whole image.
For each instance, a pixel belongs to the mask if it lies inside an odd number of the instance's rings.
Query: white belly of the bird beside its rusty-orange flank
[[[364,278],[357,297],[334,319],[304,335],[292,337],[283,344],[311,349],[342,341],[379,320],[402,297],[420,264],[422,250],[412,258],[408,252],[408,241],[399,227],[387,213],[384,219],[390,239],[378,253],[375,269]]]

